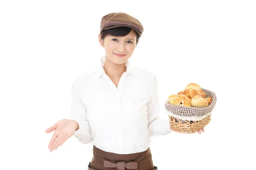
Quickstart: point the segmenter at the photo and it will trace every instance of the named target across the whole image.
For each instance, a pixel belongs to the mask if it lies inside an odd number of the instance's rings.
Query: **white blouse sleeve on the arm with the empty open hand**
[[[90,143],[91,130],[87,120],[86,106],[81,102],[78,80],[72,83],[71,96],[71,119],[79,124],[79,129],[75,131],[73,137],[83,144]]]

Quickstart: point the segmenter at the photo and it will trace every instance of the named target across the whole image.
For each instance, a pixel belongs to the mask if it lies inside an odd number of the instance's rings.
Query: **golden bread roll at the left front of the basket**
[[[191,99],[189,99],[186,95],[183,94],[173,94],[168,97],[167,101],[172,105],[182,105],[186,107],[191,107]]]

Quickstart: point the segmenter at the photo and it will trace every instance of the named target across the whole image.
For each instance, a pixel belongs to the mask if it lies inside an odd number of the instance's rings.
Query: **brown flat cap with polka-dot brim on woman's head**
[[[134,29],[140,37],[143,32],[143,26],[139,20],[132,17],[131,15],[125,14],[123,12],[114,12],[111,14],[107,14],[102,17],[101,24],[100,24],[100,32],[101,33],[105,29],[126,26]]]

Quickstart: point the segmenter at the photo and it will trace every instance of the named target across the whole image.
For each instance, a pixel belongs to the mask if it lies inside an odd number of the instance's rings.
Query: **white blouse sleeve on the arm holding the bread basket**
[[[169,117],[160,118],[160,106],[157,91],[157,79],[153,74],[153,91],[150,100],[147,103],[148,108],[148,130],[150,136],[167,135],[172,130],[170,129]]]

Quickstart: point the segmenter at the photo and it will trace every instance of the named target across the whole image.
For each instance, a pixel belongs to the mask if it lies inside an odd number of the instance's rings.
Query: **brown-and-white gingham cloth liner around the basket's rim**
[[[183,118],[184,120],[186,120],[185,118],[187,117],[191,117],[191,119],[189,120],[196,121],[197,118],[201,119],[202,117],[206,116],[207,113],[210,113],[216,104],[216,100],[217,100],[216,95],[212,91],[209,91],[204,88],[201,88],[201,89],[205,92],[206,97],[212,97],[212,102],[209,104],[209,106],[203,107],[203,108],[186,107],[186,106],[172,105],[166,101],[165,103],[166,110],[172,113],[170,116],[174,116],[174,117],[178,116],[179,119]]]

